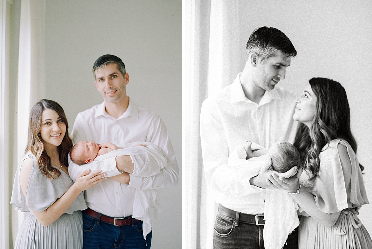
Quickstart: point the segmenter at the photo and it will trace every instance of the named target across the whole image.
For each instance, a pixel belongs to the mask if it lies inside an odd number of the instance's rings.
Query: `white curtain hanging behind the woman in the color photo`
[[[44,20],[45,0],[21,1],[17,87],[17,165],[26,149],[31,108],[38,100],[45,98]],[[17,216],[19,227],[25,214],[13,213]],[[13,224],[13,240],[18,227]]]

